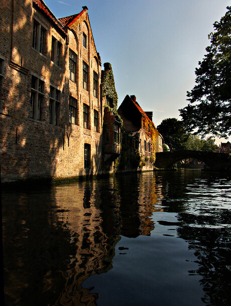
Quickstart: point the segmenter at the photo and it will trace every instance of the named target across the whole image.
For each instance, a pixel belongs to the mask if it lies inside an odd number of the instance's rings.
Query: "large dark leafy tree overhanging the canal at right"
[[[231,7],[220,22],[213,24],[199,68],[196,85],[187,91],[189,104],[179,110],[185,129],[200,135],[231,135]]]

